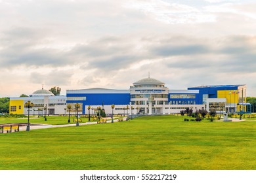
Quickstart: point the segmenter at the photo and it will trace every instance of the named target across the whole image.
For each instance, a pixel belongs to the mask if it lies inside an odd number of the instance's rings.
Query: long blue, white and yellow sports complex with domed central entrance
[[[47,90],[37,90],[30,97],[10,99],[10,114],[28,114],[25,103],[34,104],[32,112],[38,114],[47,108],[47,114],[66,114],[71,105],[75,114],[75,104],[79,103],[79,114],[96,114],[104,108],[106,114],[173,114],[186,108],[193,110],[214,110],[224,112],[251,112],[246,103],[246,85],[198,86],[187,90],[169,90],[165,84],[154,78],[144,78],[133,83],[128,90],[92,88],[67,90],[66,96],[54,96]],[[112,108],[114,105],[114,108]],[[89,109],[90,108],[90,109]],[[90,111],[89,111],[90,110]],[[32,113],[30,113],[32,114]]]

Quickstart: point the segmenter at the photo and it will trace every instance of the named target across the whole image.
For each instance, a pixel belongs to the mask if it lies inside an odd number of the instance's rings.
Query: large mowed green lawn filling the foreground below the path
[[[0,134],[0,169],[256,169],[255,122],[129,122]]]

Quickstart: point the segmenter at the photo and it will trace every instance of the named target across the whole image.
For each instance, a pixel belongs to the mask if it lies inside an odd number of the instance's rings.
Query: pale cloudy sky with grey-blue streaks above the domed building
[[[53,86],[247,84],[256,97],[255,0],[0,0],[0,97]]]

